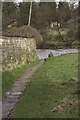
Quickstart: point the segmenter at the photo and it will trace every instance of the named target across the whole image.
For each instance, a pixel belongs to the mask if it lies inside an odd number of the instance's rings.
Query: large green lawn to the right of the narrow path
[[[77,118],[78,54],[47,59],[31,78],[12,118]]]

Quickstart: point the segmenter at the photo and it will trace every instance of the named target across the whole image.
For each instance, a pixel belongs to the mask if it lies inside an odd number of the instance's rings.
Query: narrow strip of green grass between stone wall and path
[[[9,90],[9,88],[13,85],[14,81],[20,77],[26,69],[35,65],[38,60],[32,61],[30,63],[26,63],[24,65],[20,65],[19,67],[10,70],[4,71],[2,73],[2,92]]]

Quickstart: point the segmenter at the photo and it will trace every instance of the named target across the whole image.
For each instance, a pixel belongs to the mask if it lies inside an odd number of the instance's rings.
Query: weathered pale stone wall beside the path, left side
[[[3,70],[13,69],[37,57],[34,38],[3,37],[0,46]]]

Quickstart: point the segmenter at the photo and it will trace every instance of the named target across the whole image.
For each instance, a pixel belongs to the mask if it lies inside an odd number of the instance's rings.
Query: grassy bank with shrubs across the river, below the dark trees
[[[44,42],[39,47],[51,49],[78,48],[80,42],[76,31],[77,29],[60,28],[60,36],[57,28],[44,30],[42,34]]]

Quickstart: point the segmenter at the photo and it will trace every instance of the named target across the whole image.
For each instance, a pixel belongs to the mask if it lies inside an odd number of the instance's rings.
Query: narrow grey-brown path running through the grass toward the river
[[[2,100],[2,118],[9,117],[24,90],[30,84],[29,78],[40,68],[41,65],[43,65],[43,63],[44,60],[40,60],[37,65],[26,70],[23,76],[18,78],[12,88],[4,94]]]

